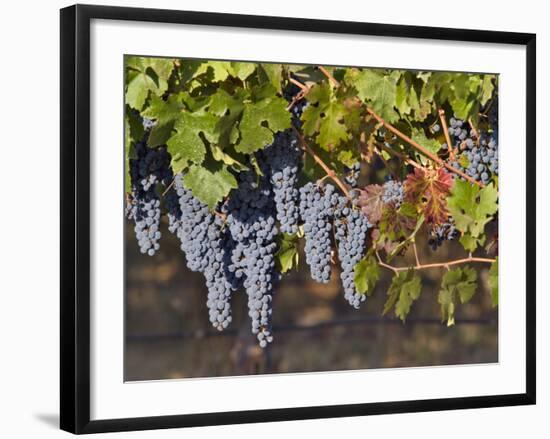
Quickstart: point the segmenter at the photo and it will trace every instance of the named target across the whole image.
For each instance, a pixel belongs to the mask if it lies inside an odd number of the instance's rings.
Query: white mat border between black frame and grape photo
[[[525,50],[355,35],[96,20],[92,44],[92,417],[253,410],[521,393],[525,389]],[[223,44],[218,44],[223,40]],[[182,46],[182,41],[193,41]],[[291,51],[307,47],[307,51]],[[452,51],[453,56],[446,54]],[[123,383],[121,128],[124,54],[498,72],[500,99],[499,364]],[[368,55],[367,55],[368,54]],[[120,148],[116,148],[120,145]],[[515,184],[505,184],[513,176]],[[113,188],[120,187],[119,191]],[[95,318],[94,318],[95,316]],[[507,324],[506,322],[514,322]],[[108,359],[108,361],[106,360]],[[389,383],[392,383],[390,386]],[[262,387],[268,397],[251,399]],[[216,398],[211,395],[216,394]],[[193,395],[181,398],[181,395]]]

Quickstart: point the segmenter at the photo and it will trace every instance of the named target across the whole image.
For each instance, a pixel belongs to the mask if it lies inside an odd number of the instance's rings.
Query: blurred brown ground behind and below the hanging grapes
[[[442,269],[422,270],[423,289],[406,323],[382,317],[392,273],[382,269],[375,292],[355,310],[345,301],[339,272],[329,284],[300,269],[286,275],[273,302],[274,342],[257,346],[250,332],[244,291],[233,294],[233,322],[218,332],[208,321],[202,274],[189,271],[178,239],[162,225],[161,250],[140,254],[133,225],[126,227],[126,381],[186,377],[414,367],[498,361],[498,308],[492,308],[488,267],[479,268],[478,290],[458,305],[456,325],[440,319],[437,303]],[[422,263],[461,257],[456,242],[432,251],[417,236]],[[412,255],[395,265],[413,263]]]

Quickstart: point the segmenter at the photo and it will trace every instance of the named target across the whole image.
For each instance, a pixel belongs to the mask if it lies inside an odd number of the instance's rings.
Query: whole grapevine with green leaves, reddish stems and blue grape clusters
[[[496,75],[135,56],[125,69],[126,216],[147,256],[164,223],[178,237],[214,328],[242,292],[267,347],[277,286],[303,266],[353,308],[388,270],[382,313],[403,321],[420,273],[440,269],[449,325],[449,291],[496,276]],[[464,255],[423,263],[422,236]]]

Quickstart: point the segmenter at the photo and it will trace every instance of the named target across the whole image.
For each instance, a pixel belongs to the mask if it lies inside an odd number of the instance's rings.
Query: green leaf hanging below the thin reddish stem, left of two
[[[421,292],[422,280],[418,273],[413,269],[400,271],[392,279],[382,313],[387,314],[395,307],[396,317],[404,322],[413,302],[420,297]]]

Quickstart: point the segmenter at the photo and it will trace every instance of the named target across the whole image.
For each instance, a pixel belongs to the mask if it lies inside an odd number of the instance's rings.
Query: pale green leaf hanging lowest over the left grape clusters
[[[183,177],[184,186],[210,209],[237,187],[235,176],[220,162],[191,165]]]

